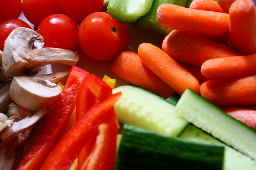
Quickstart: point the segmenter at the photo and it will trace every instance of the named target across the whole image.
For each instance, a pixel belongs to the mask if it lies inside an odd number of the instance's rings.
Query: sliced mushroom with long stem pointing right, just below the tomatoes
[[[61,48],[42,48],[44,38],[34,30],[19,27],[14,29],[5,41],[3,69],[7,77],[34,76],[40,66],[53,63],[75,65],[77,52]]]

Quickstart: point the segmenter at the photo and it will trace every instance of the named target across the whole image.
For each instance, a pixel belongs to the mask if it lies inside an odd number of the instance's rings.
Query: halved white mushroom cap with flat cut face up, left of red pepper
[[[36,81],[31,77],[13,77],[9,94],[14,103],[28,110],[49,108],[57,100],[61,87],[46,80]]]

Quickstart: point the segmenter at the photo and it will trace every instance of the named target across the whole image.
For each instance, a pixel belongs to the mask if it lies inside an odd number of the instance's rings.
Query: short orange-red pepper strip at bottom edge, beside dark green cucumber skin
[[[117,129],[115,124],[99,126],[94,148],[80,170],[113,170],[116,160]]]

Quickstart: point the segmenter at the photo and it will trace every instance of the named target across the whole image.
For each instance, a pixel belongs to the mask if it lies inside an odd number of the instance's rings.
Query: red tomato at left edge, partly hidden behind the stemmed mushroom
[[[18,27],[26,27],[32,29],[28,23],[18,18],[6,19],[0,22],[0,50],[3,51],[4,43],[9,34]]]

